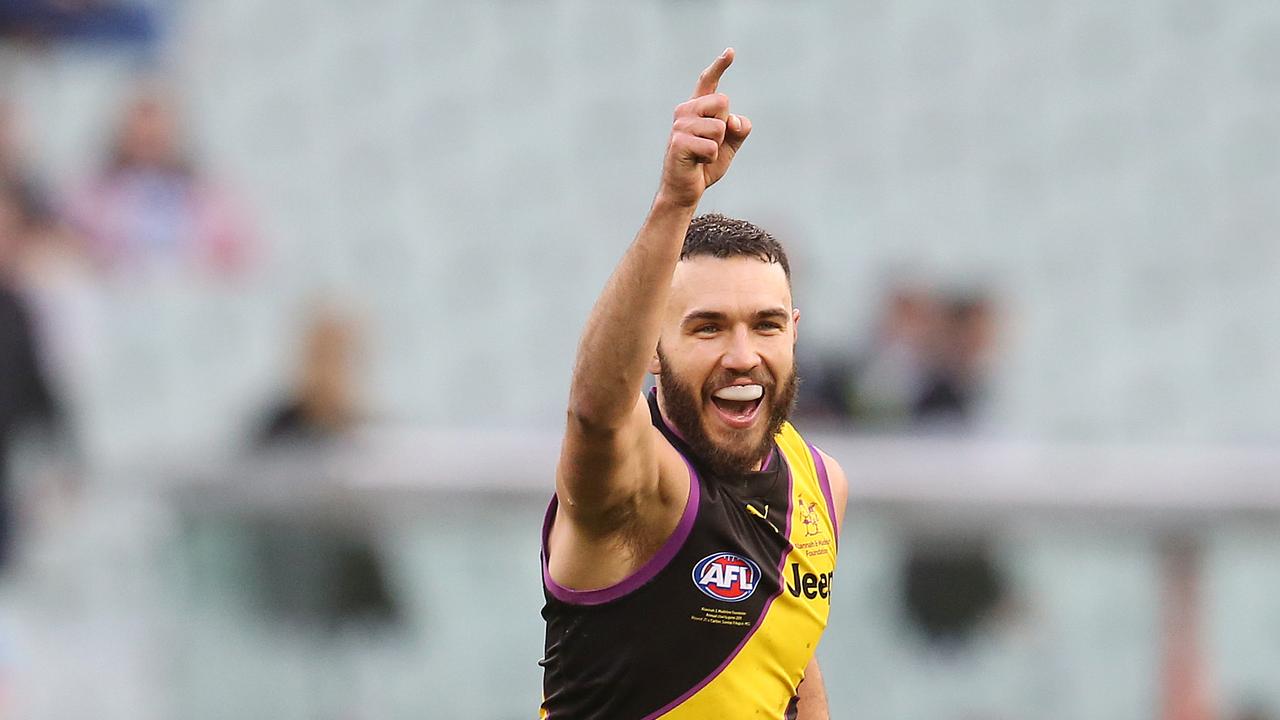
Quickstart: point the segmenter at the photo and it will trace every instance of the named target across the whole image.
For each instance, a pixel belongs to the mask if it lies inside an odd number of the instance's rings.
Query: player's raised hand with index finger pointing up
[[[682,208],[694,208],[730,163],[751,132],[751,120],[728,111],[728,96],[716,92],[721,76],[733,63],[728,47],[698,76],[694,96],[676,106],[676,117],[662,167],[658,197]]]

